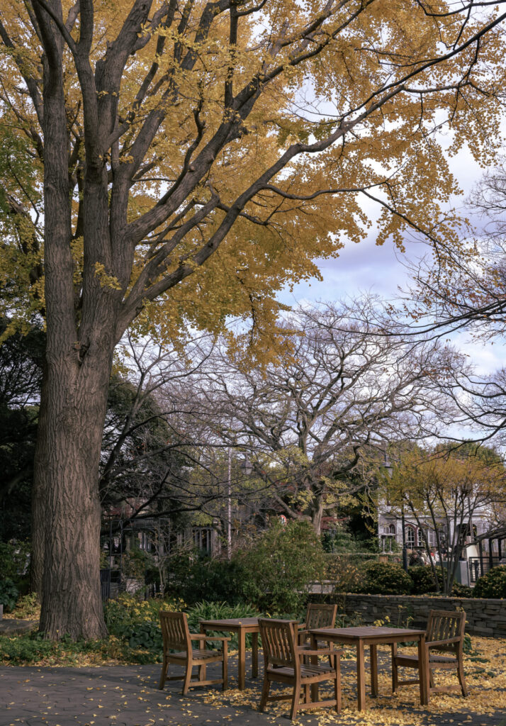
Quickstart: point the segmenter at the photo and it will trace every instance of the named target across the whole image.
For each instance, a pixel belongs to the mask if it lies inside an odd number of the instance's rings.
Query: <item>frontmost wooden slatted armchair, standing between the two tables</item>
[[[264,711],[267,701],[284,701],[291,698],[290,719],[300,709],[317,709],[321,706],[334,706],[340,713],[340,654],[341,650],[330,648],[306,650],[295,643],[295,627],[287,620],[258,619],[262,647],[264,649],[264,686],[260,711]],[[327,655],[332,658],[332,665],[319,664],[317,656]],[[313,656],[313,664],[302,663],[304,656]],[[310,701],[310,686],[322,681],[334,682],[334,698],[327,701]],[[269,696],[273,681],[293,686],[291,696]],[[301,688],[304,689],[304,702],[300,702]]]

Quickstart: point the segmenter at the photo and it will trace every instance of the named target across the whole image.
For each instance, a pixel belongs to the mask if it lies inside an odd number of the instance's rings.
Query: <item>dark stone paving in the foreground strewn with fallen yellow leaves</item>
[[[380,663],[381,667],[381,663]],[[383,668],[386,670],[385,661]],[[355,662],[343,661],[344,674],[354,673]],[[210,667],[212,673],[212,667]],[[237,662],[230,659],[230,690],[222,694],[220,687],[192,688],[184,698],[181,682],[166,683],[158,690],[159,665],[100,667],[0,667],[0,726],[267,726],[287,725],[287,705],[268,704],[264,714],[258,709],[261,679],[247,680],[245,691],[237,690]],[[218,677],[218,672],[216,676]],[[354,694],[349,694],[348,708],[332,724],[395,724],[406,726],[421,722],[427,726],[506,726],[506,693],[504,710],[493,714],[467,710],[469,699],[459,702],[460,713],[424,713],[404,708],[403,718],[388,706],[391,694],[385,691],[381,704],[368,699],[371,711],[356,711]],[[415,687],[412,687],[415,688]],[[406,690],[406,689],[404,689]],[[415,692],[412,692],[416,696]],[[472,695],[469,697],[472,698]],[[286,705],[285,705],[286,704]],[[378,708],[379,707],[379,708]],[[317,714],[298,714],[298,722],[317,726],[328,723],[329,709]],[[383,715],[382,715],[383,714]],[[420,721],[420,718],[422,721]]]

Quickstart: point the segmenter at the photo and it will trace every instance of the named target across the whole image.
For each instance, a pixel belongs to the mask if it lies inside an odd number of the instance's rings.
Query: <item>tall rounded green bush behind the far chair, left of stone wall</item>
[[[241,588],[245,600],[272,614],[293,613],[306,600],[309,584],[324,576],[325,553],[308,522],[276,522],[253,539],[242,565],[248,573]]]

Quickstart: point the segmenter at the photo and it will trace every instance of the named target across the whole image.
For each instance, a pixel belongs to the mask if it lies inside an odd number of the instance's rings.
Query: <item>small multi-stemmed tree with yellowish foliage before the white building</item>
[[[378,487],[380,508],[416,526],[434,582],[450,595],[466,543],[505,534],[504,462],[494,449],[465,442],[406,447],[394,464]]]

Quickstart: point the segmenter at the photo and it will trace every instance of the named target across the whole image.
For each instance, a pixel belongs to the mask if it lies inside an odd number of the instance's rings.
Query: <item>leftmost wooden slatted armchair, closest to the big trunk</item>
[[[227,688],[227,656],[229,637],[214,637],[212,635],[200,635],[190,633],[185,613],[170,613],[160,610],[160,625],[163,635],[163,664],[160,676],[160,690],[163,689],[166,680],[183,680],[183,696],[186,696],[188,688],[194,685],[212,685],[222,683],[223,690]],[[192,640],[199,640],[203,646],[200,649],[192,648]],[[221,650],[205,650],[208,640],[221,640]],[[175,652],[172,652],[175,651]],[[209,663],[221,661],[221,678],[219,680],[205,680],[205,666]],[[169,663],[184,666],[184,676],[167,676]],[[192,668],[198,667],[198,678],[192,680]]]

